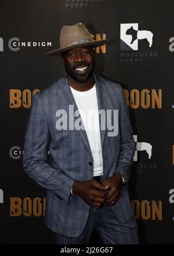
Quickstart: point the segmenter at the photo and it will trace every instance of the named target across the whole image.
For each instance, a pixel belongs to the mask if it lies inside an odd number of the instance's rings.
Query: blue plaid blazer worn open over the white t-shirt
[[[100,129],[103,176],[111,177],[119,172],[128,180],[135,142],[124,93],[118,83],[100,76],[95,75],[95,83],[99,110],[118,110],[118,135],[107,136],[107,127]],[[75,180],[93,179],[93,166],[89,164],[93,159],[85,129],[56,129],[56,111],[64,109],[68,113],[69,105],[74,105],[74,111],[78,110],[66,75],[33,97],[23,167],[28,176],[47,190],[46,226],[53,232],[78,237],[84,230],[91,206],[70,191]],[[108,207],[119,222],[132,219],[127,186],[122,188],[117,204]]]

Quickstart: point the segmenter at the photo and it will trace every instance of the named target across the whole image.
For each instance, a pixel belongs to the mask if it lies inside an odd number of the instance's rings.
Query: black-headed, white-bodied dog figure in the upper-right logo
[[[133,29],[133,26],[126,30],[126,34],[131,35],[132,36],[132,41],[131,44],[133,44],[133,42],[138,39],[147,39],[148,43],[149,43],[149,47],[151,47],[151,45],[153,44],[153,33],[151,33],[151,31],[147,31],[147,30],[135,30]]]

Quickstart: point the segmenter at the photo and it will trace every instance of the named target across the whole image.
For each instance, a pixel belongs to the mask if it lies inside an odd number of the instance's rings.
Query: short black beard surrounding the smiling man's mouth
[[[85,74],[78,74],[75,72],[75,68],[81,68],[82,66],[88,66],[88,70]],[[95,60],[93,62],[79,62],[75,66],[70,66],[65,62],[66,72],[71,78],[73,78],[78,83],[86,83],[90,77],[93,75],[93,71],[95,70]]]

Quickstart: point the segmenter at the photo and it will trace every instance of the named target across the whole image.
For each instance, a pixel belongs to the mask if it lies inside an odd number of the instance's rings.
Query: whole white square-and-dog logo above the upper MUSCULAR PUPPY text
[[[139,30],[138,23],[120,24],[121,50],[139,50],[139,40],[147,40],[149,47],[153,44],[153,33],[149,30]]]

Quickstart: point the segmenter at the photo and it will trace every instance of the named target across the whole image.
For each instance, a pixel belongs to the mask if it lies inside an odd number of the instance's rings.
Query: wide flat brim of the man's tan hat
[[[104,39],[104,40],[92,41],[88,43],[74,44],[68,47],[56,49],[54,51],[49,51],[45,54],[45,56],[46,57],[56,56],[56,55],[59,55],[61,52],[70,51],[71,49],[78,48],[78,47],[84,47],[84,46],[90,46],[90,45],[91,46],[93,45],[94,47],[98,47],[100,45],[106,44],[107,42],[108,42],[108,39]]]

